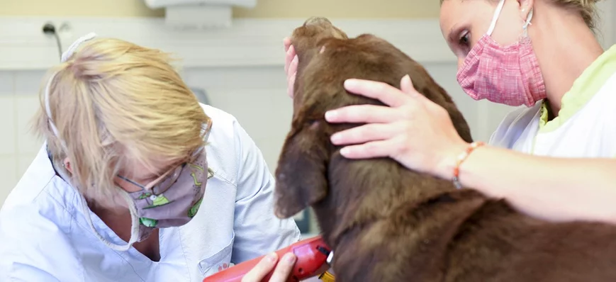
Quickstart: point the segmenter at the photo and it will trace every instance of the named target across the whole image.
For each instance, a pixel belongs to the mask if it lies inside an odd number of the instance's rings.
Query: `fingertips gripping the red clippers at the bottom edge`
[[[269,282],[285,282],[289,279],[289,275],[291,275],[291,270],[295,265],[297,257],[293,253],[287,253],[282,256],[282,259],[278,264],[278,255],[276,253],[271,253],[265,256],[259,263],[254,266],[253,269],[248,271],[246,275],[242,278],[242,282],[261,282],[262,279],[267,276],[267,274],[274,269],[274,273],[271,274],[271,278],[269,278]]]

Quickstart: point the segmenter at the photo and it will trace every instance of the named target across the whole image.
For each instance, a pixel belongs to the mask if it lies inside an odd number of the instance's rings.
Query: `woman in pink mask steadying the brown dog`
[[[507,115],[488,145],[471,145],[408,77],[408,93],[349,79],[348,91],[390,107],[328,112],[330,123],[368,123],[332,142],[347,145],[345,157],[392,157],[537,218],[616,223],[616,46],[604,51],[595,38],[596,0],[441,2],[442,33],[466,94],[526,107]],[[292,89],[297,59],[285,43]]]

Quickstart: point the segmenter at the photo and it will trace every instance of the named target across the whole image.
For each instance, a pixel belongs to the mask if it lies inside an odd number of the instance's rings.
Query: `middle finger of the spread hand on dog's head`
[[[376,105],[354,105],[325,113],[330,123],[389,123],[401,117],[396,108]]]

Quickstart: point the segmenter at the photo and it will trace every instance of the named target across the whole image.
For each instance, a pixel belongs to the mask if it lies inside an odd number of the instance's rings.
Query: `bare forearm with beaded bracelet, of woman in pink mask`
[[[480,147],[460,166],[463,186],[547,220],[616,224],[616,160],[537,157]]]

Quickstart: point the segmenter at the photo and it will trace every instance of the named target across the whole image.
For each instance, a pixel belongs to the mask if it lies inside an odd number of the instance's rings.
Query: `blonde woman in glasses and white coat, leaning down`
[[[89,35],[62,61],[0,212],[0,281],[197,282],[300,239],[257,146],[167,54]]]

